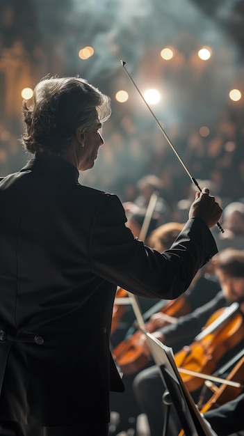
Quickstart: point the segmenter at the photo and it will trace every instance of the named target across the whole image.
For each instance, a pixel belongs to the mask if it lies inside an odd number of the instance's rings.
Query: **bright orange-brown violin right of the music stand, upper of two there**
[[[187,370],[195,373],[213,374],[221,357],[243,338],[244,322],[243,316],[238,310],[238,303],[215,311],[203,331],[196,336],[195,341],[174,356],[178,371],[181,373],[188,391],[195,391],[202,387],[204,380],[188,375]]]

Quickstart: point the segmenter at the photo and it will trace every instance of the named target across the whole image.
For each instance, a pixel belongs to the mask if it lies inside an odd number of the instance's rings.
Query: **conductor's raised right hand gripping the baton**
[[[195,201],[190,206],[189,218],[201,218],[211,228],[218,223],[221,215],[222,208],[214,196],[209,195],[209,189],[205,187],[202,192],[196,192]]]

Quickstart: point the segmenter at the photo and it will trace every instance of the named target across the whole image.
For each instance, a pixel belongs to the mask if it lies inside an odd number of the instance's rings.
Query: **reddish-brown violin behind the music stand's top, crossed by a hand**
[[[179,318],[190,312],[190,304],[188,304],[185,295],[181,295],[177,299],[170,300],[170,302],[163,305],[158,313],[165,314],[165,323],[172,322],[171,317]],[[147,332],[152,333],[150,327],[150,320],[145,324]],[[133,334],[124,338],[124,341],[119,343],[113,349],[113,357],[117,362],[122,373],[128,375],[140,371],[150,361],[150,357],[144,354],[144,348],[139,344],[141,332],[136,330]]]

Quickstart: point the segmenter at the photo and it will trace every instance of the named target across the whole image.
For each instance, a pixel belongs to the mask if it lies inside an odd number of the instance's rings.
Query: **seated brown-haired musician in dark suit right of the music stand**
[[[222,290],[209,303],[204,304],[204,306],[196,309],[189,315],[181,316],[177,323],[157,329],[153,333],[161,342],[172,347],[174,353],[179,350],[180,341],[181,348],[186,344],[193,343],[195,336],[202,331],[211,315],[218,311],[218,309],[229,306],[232,302],[238,302],[239,311],[244,313],[244,252],[235,249],[225,249],[220,251],[213,258],[212,262]],[[243,328],[243,324],[240,328]],[[145,353],[149,354],[144,334],[140,336],[140,343],[144,345]],[[178,349],[175,349],[174,345],[177,345]],[[228,350],[228,352],[223,352],[222,358],[218,361],[218,366],[229,361],[231,357],[243,348],[244,336],[236,346]],[[165,414],[162,398],[165,387],[161,380],[158,366],[146,368],[136,375],[133,382],[133,391],[140,407],[140,412],[147,415],[151,436],[162,436]],[[193,396],[193,400],[196,401],[200,390],[192,390],[190,394]],[[175,414],[174,407],[172,406],[167,435],[177,435],[177,430],[174,428],[175,422],[177,422],[177,414]],[[229,433],[222,434],[226,435]]]

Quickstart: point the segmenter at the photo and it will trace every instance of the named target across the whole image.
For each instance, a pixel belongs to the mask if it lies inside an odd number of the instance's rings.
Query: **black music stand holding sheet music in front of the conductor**
[[[174,362],[172,348],[169,348],[158,341],[158,339],[152,336],[152,334],[148,332],[145,332],[145,334],[147,336],[147,342],[152,353],[152,357],[154,358],[154,361],[160,370],[163,383],[170,394],[170,399],[167,398],[166,395],[167,400],[165,402],[168,408],[166,424],[163,429],[165,435],[167,432],[166,427],[168,425],[167,421],[171,404],[174,405],[179,416],[179,422],[182,430],[184,430],[185,436],[215,435],[213,430],[210,428],[209,423],[207,423],[207,421],[200,414],[199,410],[197,410],[193,398],[190,396],[188,389],[179,375],[179,371],[177,370],[177,366]]]

